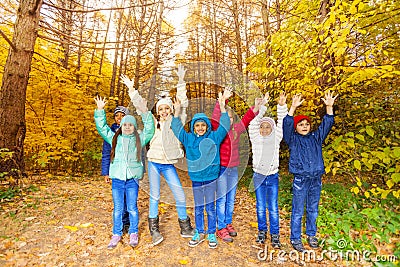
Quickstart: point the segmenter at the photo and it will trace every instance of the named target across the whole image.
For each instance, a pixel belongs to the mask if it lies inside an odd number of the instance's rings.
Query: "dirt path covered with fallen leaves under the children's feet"
[[[193,203],[190,181],[180,175]],[[163,179],[162,179],[163,180]],[[266,246],[255,242],[257,220],[255,199],[247,189],[236,197],[234,223],[238,236],[234,242],[218,239],[216,249],[207,242],[195,248],[189,239],[180,237],[178,218],[165,183],[161,185],[160,231],[164,241],[151,243],[148,231],[148,184],[145,176],[139,191],[139,245],[132,249],[127,234],[114,250],[107,244],[112,230],[111,186],[102,177],[37,177],[31,190],[0,203],[0,266],[360,266],[360,262],[323,259],[296,260],[289,243],[289,216],[280,211],[282,251],[272,251],[269,238]],[[188,208],[193,219],[193,208]],[[287,213],[287,212],[286,212]],[[309,247],[305,245],[307,249]],[[267,258],[261,258],[267,251]],[[264,251],[263,251],[264,250]],[[322,249],[315,250],[321,255]],[[291,257],[289,257],[291,255]]]

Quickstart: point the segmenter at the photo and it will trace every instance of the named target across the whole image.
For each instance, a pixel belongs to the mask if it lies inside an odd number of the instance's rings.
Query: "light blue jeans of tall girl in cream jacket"
[[[178,217],[181,220],[187,218],[186,199],[181,181],[173,164],[160,164],[149,161],[149,183],[150,183],[150,207],[149,218],[157,218],[158,202],[160,201],[160,178],[164,176],[172,194],[175,198],[175,206],[178,212]]]

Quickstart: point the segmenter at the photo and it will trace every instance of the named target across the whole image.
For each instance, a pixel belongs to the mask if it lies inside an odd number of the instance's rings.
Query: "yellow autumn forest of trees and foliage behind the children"
[[[134,81],[151,108],[160,91],[174,96],[177,64],[203,62],[186,74],[195,81],[187,83],[189,99],[215,99],[222,85],[234,84],[229,105],[239,116],[255,97],[269,92],[276,99],[285,91],[289,105],[296,93],[306,98],[298,112],[318,125],[324,115],[320,98],[326,90],[338,93],[336,124],[324,147],[327,177],[362,204],[348,207],[359,221],[345,218],[332,235],[368,221],[374,230],[353,235],[354,244],[365,245],[374,234],[387,243],[398,238],[400,3],[190,1],[183,4],[188,14],[178,29],[168,13],[180,5],[172,0],[0,3],[2,201],[12,201],[33,175],[99,174],[102,140],[94,128],[93,97],[108,96],[109,115],[116,105],[128,105],[121,74]],[[217,82],[201,82],[204,66],[214,66]],[[227,75],[225,67],[234,74]],[[270,102],[272,115],[275,105]],[[284,146],[282,151],[286,166],[288,152]],[[399,244],[392,248],[398,251]]]

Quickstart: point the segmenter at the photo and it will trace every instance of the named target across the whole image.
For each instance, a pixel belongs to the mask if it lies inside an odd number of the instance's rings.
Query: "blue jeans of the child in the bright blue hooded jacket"
[[[215,212],[215,193],[217,191],[216,179],[206,182],[192,181],[194,197],[194,218],[196,229],[199,233],[204,231],[204,206],[207,212],[208,229],[207,234],[214,234],[216,231],[217,216]]]

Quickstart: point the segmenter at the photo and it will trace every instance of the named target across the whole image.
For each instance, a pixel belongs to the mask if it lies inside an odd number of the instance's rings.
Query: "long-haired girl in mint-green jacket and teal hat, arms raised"
[[[113,229],[109,249],[115,248],[122,236],[122,214],[124,211],[124,198],[129,213],[129,245],[136,247],[139,242],[138,225],[139,210],[137,198],[139,192],[139,179],[143,177],[143,164],[141,149],[154,134],[154,121],[147,110],[146,101],[141,101],[139,108],[144,124],[143,131],[139,134],[135,117],[126,115],[121,120],[121,127],[114,133],[107,125],[104,98],[96,97],[97,109],[94,112],[96,128],[101,137],[111,145],[110,153],[110,178],[112,181]]]

